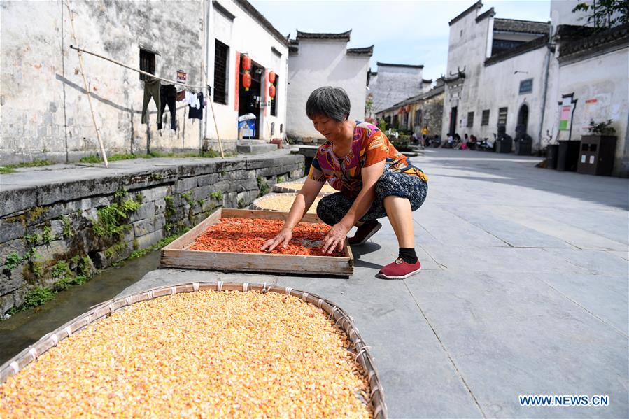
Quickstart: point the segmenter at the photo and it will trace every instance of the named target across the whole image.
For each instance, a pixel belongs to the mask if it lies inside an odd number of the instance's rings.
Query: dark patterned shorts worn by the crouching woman
[[[376,199],[360,221],[386,217],[384,199],[390,195],[408,198],[411,201],[411,210],[415,211],[424,203],[427,193],[428,184],[417,176],[385,171],[376,183]],[[325,224],[335,225],[347,214],[354,199],[342,192],[327,195],[319,201],[317,215]]]

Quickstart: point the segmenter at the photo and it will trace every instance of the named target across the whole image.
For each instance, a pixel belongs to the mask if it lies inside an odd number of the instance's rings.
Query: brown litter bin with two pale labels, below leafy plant
[[[612,176],[615,154],[615,136],[584,135],[581,137],[577,172],[585,175]]]

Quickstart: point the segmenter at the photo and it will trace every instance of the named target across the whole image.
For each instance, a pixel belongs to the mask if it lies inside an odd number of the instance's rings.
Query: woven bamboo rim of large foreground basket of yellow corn
[[[196,283],[184,283],[173,286],[156,287],[152,290],[144,292],[136,292],[127,297],[120,297],[105,301],[104,303],[94,306],[87,313],[79,315],[77,318],[70,320],[61,327],[55,329],[39,339],[36,343],[22,350],[22,352],[15,355],[4,364],[0,366],[0,383],[4,383],[7,378],[14,376],[20,370],[27,366],[27,364],[34,362],[37,358],[48,351],[50,348],[57,346],[57,344],[73,334],[85,329],[87,325],[93,322],[97,322],[108,315],[115,313],[115,311],[122,310],[132,304],[139,303],[140,301],[146,301],[149,299],[155,299],[164,297],[167,295],[178,294],[180,292],[197,292],[197,291],[259,291],[259,292],[276,292],[278,294],[292,295],[293,297],[299,297],[306,303],[313,304],[318,308],[325,311],[328,314],[330,320],[334,321],[335,325],[341,327],[344,330],[348,339],[354,345],[355,357],[360,366],[367,372],[367,380],[369,381],[369,403],[372,404],[374,409],[374,418],[383,419],[388,417],[387,406],[384,401],[384,392],[380,383],[380,378],[376,367],[374,367],[374,361],[372,355],[369,353],[368,347],[362,341],[358,329],[353,324],[353,320],[348,316],[342,308],[339,308],[336,304],[321,298],[316,294],[309,294],[308,292],[293,290],[290,287],[278,287],[276,285],[264,284],[250,284],[250,283],[223,283],[218,281],[216,283],[196,282]]]

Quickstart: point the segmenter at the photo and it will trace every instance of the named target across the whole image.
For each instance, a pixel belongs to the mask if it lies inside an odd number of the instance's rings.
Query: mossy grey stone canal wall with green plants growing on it
[[[42,288],[80,283],[94,269],[180,234],[219,206],[248,206],[274,183],[303,176],[304,157],[108,170],[112,174],[0,190],[0,317],[38,298]]]

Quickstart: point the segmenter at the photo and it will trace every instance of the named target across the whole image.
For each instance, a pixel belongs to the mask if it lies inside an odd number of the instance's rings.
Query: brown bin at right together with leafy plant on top
[[[577,171],[588,175],[611,176],[616,154],[616,129],[612,120],[590,120],[588,135],[581,136]]]

